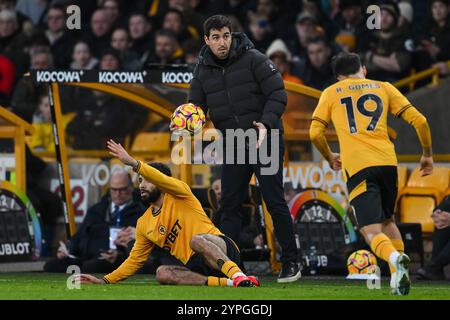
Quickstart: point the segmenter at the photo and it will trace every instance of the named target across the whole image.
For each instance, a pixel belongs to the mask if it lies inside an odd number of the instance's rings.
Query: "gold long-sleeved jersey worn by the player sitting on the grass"
[[[109,283],[126,279],[138,271],[155,245],[186,264],[194,255],[190,247],[193,236],[223,235],[206,215],[186,183],[166,176],[143,162],[139,162],[137,172],[165,192],[163,204],[158,212],[154,213],[150,207],[139,218],[136,242],[130,256],[119,268],[103,278]]]

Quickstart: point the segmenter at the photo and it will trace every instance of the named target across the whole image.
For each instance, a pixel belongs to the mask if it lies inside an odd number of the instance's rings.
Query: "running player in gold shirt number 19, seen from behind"
[[[422,145],[422,176],[432,173],[431,133],[426,118],[393,85],[366,79],[359,56],[341,53],[332,62],[339,80],[322,92],[313,113],[311,141],[334,170],[342,168],[357,226],[372,251],[391,268],[392,293],[409,293],[409,263],[394,222],[397,157],[388,136],[388,112],[416,129]],[[340,154],[333,153],[325,129],[333,122]]]

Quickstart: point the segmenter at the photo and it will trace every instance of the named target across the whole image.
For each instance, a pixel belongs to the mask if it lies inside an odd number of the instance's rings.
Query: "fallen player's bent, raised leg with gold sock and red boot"
[[[239,268],[240,253],[237,245],[224,236],[200,234],[190,241],[191,249],[200,255],[205,264],[215,271],[220,271],[234,281],[235,286],[258,286],[254,277],[247,277]],[[215,279],[212,283],[215,282]]]

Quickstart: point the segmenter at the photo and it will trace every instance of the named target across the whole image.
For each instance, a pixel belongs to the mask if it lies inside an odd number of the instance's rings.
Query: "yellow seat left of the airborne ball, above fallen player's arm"
[[[136,135],[131,152],[164,154],[170,152],[170,133],[141,132]]]

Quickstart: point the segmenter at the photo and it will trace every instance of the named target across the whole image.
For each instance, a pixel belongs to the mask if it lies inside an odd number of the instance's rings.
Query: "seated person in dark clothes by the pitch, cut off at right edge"
[[[450,264],[450,197],[431,215],[436,227],[433,234],[431,262],[417,270],[420,280],[444,280],[444,267]]]

